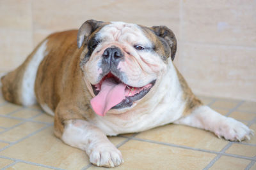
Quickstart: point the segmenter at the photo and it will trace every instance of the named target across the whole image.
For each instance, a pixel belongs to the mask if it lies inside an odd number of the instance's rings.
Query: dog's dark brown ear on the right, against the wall
[[[157,36],[163,38],[164,41],[168,43],[168,46],[171,49],[172,60],[174,60],[175,53],[177,51],[177,39],[175,38],[172,30],[168,29],[168,27],[166,26],[154,26],[151,27],[151,29],[155,32]]]

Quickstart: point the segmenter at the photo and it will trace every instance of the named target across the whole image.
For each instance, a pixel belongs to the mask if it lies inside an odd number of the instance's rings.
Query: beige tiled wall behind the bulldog
[[[256,101],[255,9],[253,0],[0,0],[0,71],[19,66],[47,34],[90,18],[167,25],[196,94]]]

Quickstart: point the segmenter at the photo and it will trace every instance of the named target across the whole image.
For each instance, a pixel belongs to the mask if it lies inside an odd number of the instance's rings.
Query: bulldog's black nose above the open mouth
[[[115,62],[117,60],[120,60],[120,58],[123,57],[123,53],[118,47],[109,47],[104,51],[102,57],[104,57],[105,59],[108,59],[109,62],[111,61]]]

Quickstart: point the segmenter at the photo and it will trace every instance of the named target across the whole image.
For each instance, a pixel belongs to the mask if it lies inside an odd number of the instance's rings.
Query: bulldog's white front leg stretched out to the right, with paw
[[[180,118],[174,124],[205,129],[214,132],[219,138],[223,137],[230,141],[250,139],[250,134],[253,134],[243,123],[234,118],[225,117],[208,106],[198,106],[190,115]]]

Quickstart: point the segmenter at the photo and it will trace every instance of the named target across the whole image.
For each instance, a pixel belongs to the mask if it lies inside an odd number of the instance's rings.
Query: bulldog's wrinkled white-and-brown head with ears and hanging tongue
[[[166,72],[177,41],[165,26],[88,20],[77,34],[81,69],[98,115],[134,107]],[[95,97],[94,97],[95,96]]]

